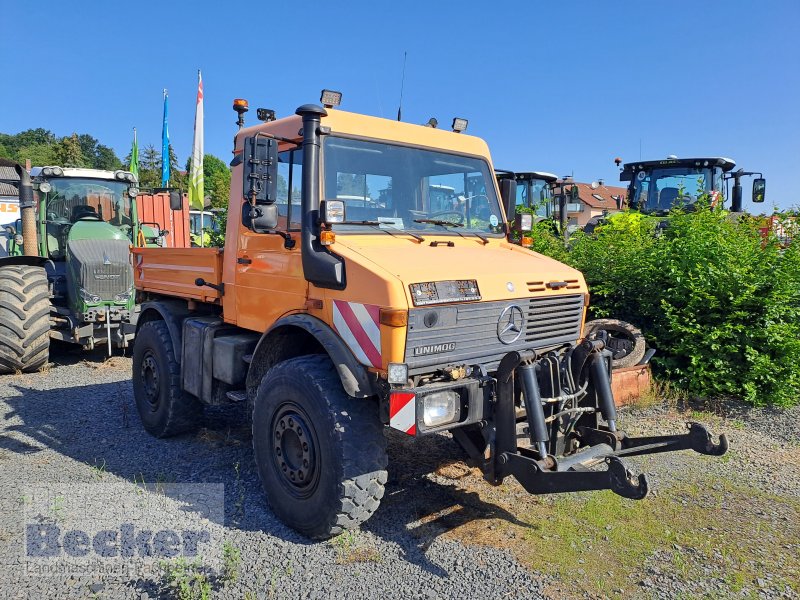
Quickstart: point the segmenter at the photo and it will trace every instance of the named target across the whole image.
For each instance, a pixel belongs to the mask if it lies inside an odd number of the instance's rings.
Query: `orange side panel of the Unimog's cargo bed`
[[[221,248],[133,248],[136,289],[177,298],[218,302],[221,294],[197,278],[222,283]]]

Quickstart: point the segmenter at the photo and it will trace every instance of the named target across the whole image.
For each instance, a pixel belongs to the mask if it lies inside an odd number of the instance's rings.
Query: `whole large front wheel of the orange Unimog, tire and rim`
[[[356,528],[380,505],[388,459],[378,408],[345,393],[327,356],[270,369],[256,394],[253,450],[273,512],[309,538]]]

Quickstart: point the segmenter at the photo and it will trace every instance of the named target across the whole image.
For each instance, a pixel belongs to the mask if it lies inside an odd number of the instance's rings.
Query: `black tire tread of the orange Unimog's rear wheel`
[[[167,385],[167,414],[166,418],[156,427],[147,427],[147,432],[157,438],[171,437],[188,431],[194,431],[199,425],[203,416],[203,407],[200,401],[183,391],[181,385],[181,366],[175,359],[175,352],[172,347],[172,338],[169,328],[164,321],[147,321],[136,334],[134,344],[133,361],[133,393],[137,407],[140,402],[146,402],[139,395],[143,392],[139,389],[139,373],[137,357],[141,357],[145,349],[145,344],[152,341],[148,338],[154,337],[155,343],[160,346],[166,356],[166,366],[169,382]]]

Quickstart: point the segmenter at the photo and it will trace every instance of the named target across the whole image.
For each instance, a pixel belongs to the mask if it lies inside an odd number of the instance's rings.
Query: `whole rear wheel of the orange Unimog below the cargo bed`
[[[152,436],[169,437],[200,424],[203,405],[181,388],[181,367],[163,321],[148,321],[136,334],[133,397],[142,425]]]

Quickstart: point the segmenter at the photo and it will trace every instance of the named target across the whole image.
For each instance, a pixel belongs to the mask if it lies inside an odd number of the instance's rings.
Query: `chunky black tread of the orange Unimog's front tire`
[[[333,435],[342,448],[338,508],[323,526],[302,531],[311,539],[324,540],[357,528],[380,506],[388,478],[386,438],[377,407],[370,400],[351,398],[345,393],[327,355],[300,356],[275,365],[261,381],[258,397],[263,397],[274,377],[287,372],[292,378],[311,382],[325,399],[334,420]],[[254,443],[257,435],[259,432],[254,431]]]

